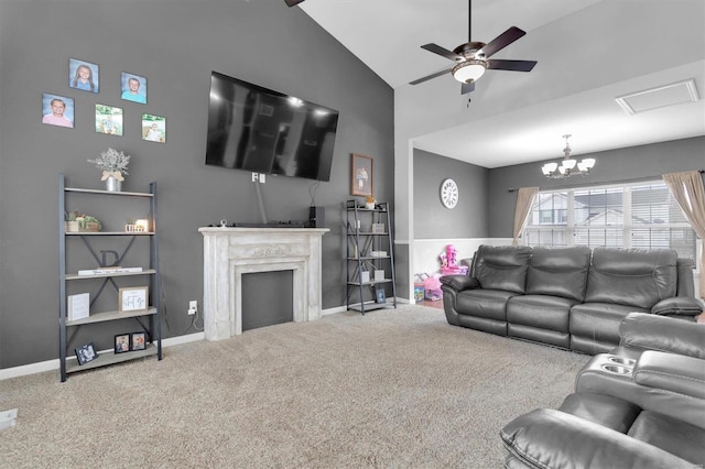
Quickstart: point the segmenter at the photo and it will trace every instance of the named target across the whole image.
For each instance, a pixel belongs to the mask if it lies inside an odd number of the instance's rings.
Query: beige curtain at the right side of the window
[[[705,243],[705,187],[698,171],[663,175],[685,219]],[[701,255],[701,298],[705,298],[705,246]]]

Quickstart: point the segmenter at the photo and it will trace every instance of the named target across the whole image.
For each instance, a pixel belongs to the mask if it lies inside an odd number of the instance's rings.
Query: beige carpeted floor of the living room
[[[558,406],[587,360],[436,308],[340,313],[0,381],[19,410],[0,467],[499,468],[499,429]]]

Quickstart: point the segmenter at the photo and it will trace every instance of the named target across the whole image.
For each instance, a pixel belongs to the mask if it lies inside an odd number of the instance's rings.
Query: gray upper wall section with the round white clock
[[[414,239],[486,238],[489,215],[489,170],[414,150]],[[441,204],[441,183],[453,178],[459,200]]]

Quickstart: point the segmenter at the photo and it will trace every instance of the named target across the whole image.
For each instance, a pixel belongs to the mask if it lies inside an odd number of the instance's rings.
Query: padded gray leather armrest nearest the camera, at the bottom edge
[[[550,408],[514,418],[500,436],[509,468],[693,468],[655,446]]]

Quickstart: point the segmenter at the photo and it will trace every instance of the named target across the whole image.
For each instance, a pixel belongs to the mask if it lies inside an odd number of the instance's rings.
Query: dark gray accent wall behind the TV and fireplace
[[[0,0],[0,368],[58,356],[57,174],[99,188],[86,160],[108,146],[132,155],[124,190],[159,183],[164,337],[195,331],[185,312],[202,306],[197,228],[259,220],[250,174],[204,165],[212,70],[340,111],[330,182],[269,177],[262,192],[272,220],[306,219],[311,192],[326,208],[323,306],[345,304],[350,153],[375,156],[375,195],[393,206],[393,94],[303,11],[281,0]],[[99,94],[67,86],[69,57],[100,66]],[[148,78],[147,106],[120,99],[121,72]],[[75,99],[75,129],[41,123],[43,92]],[[94,131],[96,103],[124,110],[123,137]],[[141,140],[142,112],[166,118],[165,144]],[[111,210],[93,204],[91,215]],[[76,340],[107,348],[135,327],[82,328]]]

